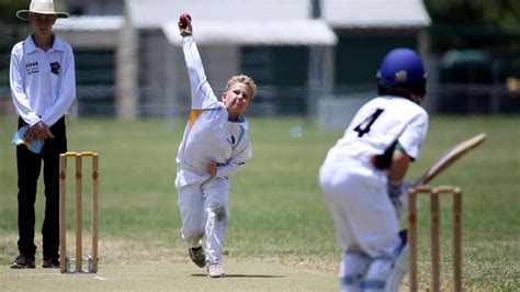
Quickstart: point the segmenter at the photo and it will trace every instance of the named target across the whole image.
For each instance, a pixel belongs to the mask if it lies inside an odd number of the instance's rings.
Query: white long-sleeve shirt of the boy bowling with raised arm
[[[177,156],[177,188],[210,178],[206,166],[212,160],[218,165],[217,177],[229,177],[252,156],[248,123],[244,116],[228,121],[226,105],[217,100],[207,82],[193,36],[183,37],[182,49],[192,110]]]

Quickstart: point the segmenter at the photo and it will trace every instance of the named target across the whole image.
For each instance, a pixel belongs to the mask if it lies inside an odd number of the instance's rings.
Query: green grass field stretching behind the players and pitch
[[[485,144],[432,182],[463,189],[463,283],[467,289],[520,289],[519,121],[519,116],[432,116],[421,156],[407,176],[408,180],[417,178],[454,143],[481,132],[488,134]],[[2,119],[0,123],[0,265],[8,265],[16,254],[16,171],[10,145],[15,121]],[[296,126],[304,131],[299,138],[290,135]],[[122,261],[122,243],[123,249],[143,252],[143,257],[169,250],[183,256],[173,186],[183,130],[184,122],[171,125],[163,120],[81,119],[68,123],[69,149],[95,150],[101,156],[103,260]],[[231,179],[227,257],[275,258],[327,271],[337,269],[341,251],[317,173],[327,149],[341,134],[340,130],[320,131],[314,122],[301,119],[250,119],[253,158]],[[83,183],[88,189],[89,183]],[[68,184],[74,188],[74,181]],[[42,191],[37,198],[39,231]],[[419,276],[423,285],[429,278],[428,207],[422,199]],[[451,201],[442,200],[442,277],[446,285],[451,272],[450,207]]]

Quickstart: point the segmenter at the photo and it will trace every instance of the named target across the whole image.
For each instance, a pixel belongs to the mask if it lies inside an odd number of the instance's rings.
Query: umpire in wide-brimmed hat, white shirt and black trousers
[[[34,225],[37,180],[43,165],[45,218],[42,226],[44,268],[59,267],[59,154],[67,150],[65,114],[76,100],[75,59],[69,44],[52,33],[58,18],[52,0],[33,0],[16,16],[26,20],[32,34],[11,53],[10,86],[18,128],[29,127],[23,141],[43,141],[41,150],[16,146],[18,248],[11,268],[35,268]],[[43,162],[43,164],[42,164]]]

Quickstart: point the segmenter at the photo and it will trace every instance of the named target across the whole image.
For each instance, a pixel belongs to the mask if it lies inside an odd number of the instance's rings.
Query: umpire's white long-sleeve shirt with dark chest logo
[[[44,52],[27,36],[11,52],[10,85],[16,112],[27,124],[54,125],[76,99],[72,48],[54,35],[53,47]]]

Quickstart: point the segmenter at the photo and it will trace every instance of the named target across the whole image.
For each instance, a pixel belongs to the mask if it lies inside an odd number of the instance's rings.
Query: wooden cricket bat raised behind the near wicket
[[[439,157],[439,159],[437,159],[437,161],[433,162],[433,165],[431,165],[425,171],[425,173],[422,173],[422,176],[416,181],[415,186],[423,186],[430,182],[432,179],[439,176],[442,171],[444,171],[448,167],[450,167],[452,164],[459,160],[459,158],[464,156],[471,149],[481,145],[486,139],[486,137],[487,137],[486,133],[481,133],[450,148],[446,153],[444,153],[444,155]]]

